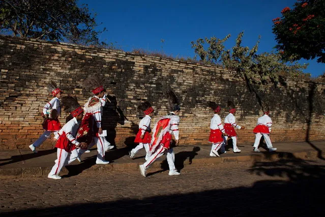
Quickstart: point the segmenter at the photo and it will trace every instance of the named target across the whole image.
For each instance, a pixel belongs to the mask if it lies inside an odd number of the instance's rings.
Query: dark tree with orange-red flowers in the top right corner
[[[284,60],[314,59],[325,63],[325,1],[298,1],[273,19],[276,48]]]

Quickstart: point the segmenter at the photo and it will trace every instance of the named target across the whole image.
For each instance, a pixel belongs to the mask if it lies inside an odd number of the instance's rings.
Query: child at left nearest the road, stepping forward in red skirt
[[[67,97],[66,101],[69,101],[69,97]],[[74,99],[70,99],[70,102],[73,100]],[[63,101],[65,100],[63,99]],[[67,103],[65,104],[67,105]],[[68,123],[66,123],[53,138],[53,140],[57,140],[55,145],[57,148],[57,159],[54,161],[55,165],[52,167],[51,172],[48,174],[48,178],[61,179],[61,176],[58,176],[58,173],[60,173],[61,169],[78,157],[76,148],[87,148],[86,143],[79,143],[75,138],[77,129],[79,127],[78,121],[81,121],[83,117],[83,110],[78,105],[79,104],[77,101],[74,103],[74,105],[69,105],[69,108],[75,108],[71,112],[73,119],[68,121]]]

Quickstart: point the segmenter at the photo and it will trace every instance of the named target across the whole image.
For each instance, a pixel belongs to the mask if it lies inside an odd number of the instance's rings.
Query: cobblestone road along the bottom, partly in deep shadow
[[[0,180],[1,216],[321,216],[325,161]]]

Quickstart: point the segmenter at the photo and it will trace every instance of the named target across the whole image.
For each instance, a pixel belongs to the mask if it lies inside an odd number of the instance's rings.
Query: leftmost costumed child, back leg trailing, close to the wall
[[[46,103],[43,107],[42,117],[45,118],[43,122],[43,129],[45,130],[41,137],[36,140],[32,145],[29,146],[29,148],[34,152],[37,153],[36,148],[43,144],[43,142],[50,138],[51,133],[53,132],[54,135],[58,132],[58,130],[61,129],[61,123],[57,119],[57,117],[49,118],[48,112],[51,110],[56,110],[57,116],[61,113],[61,107],[60,107],[60,98],[62,91],[60,88],[57,88],[56,84],[50,80],[50,83],[48,85],[48,89],[51,91],[51,94],[54,96],[51,101]]]

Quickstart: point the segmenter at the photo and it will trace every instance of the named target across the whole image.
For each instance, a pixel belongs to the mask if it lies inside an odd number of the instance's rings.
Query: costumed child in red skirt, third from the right
[[[215,103],[211,105],[212,109],[215,112],[215,115],[211,119],[210,123],[210,137],[209,137],[209,143],[212,143],[210,156],[211,157],[220,157],[218,154],[218,150],[220,148],[222,153],[226,153],[224,150],[224,138],[223,135],[225,134],[225,129],[223,128],[223,125],[221,123],[220,113],[221,113],[221,107]]]

